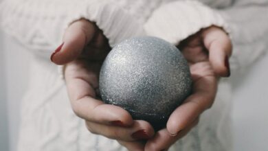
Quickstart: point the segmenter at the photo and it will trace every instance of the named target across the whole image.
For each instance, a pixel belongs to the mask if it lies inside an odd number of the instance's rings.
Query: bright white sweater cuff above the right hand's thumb
[[[181,40],[212,25],[230,33],[223,17],[216,10],[198,1],[175,1],[155,10],[144,29],[149,36],[157,36],[178,45]]]

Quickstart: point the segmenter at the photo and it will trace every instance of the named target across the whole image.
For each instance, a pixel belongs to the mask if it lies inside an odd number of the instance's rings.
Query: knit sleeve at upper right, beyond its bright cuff
[[[245,69],[268,50],[268,1],[236,0],[232,7],[219,13],[231,31],[231,67]]]

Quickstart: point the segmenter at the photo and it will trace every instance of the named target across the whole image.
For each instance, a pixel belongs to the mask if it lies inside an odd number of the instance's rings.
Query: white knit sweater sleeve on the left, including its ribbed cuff
[[[95,22],[111,46],[144,34],[142,22],[112,0],[6,0],[0,3],[0,16],[5,32],[47,59],[77,19]]]

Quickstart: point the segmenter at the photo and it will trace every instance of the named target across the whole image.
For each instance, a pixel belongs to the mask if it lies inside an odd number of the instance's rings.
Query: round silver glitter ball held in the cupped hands
[[[191,86],[190,70],[179,49],[155,37],[124,40],[111,50],[100,71],[102,100],[156,129],[165,126]]]

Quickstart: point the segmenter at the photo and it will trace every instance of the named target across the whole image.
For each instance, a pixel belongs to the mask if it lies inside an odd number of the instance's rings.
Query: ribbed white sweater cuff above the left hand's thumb
[[[81,8],[83,8],[81,10]],[[126,38],[133,36],[142,36],[144,30],[142,23],[134,19],[134,16],[129,14],[120,5],[113,2],[96,1],[92,3],[85,1],[76,5],[76,8],[70,8],[72,12],[67,18],[67,24],[78,20],[87,19],[102,30],[104,36],[109,40],[109,45],[113,47],[115,44],[120,43]]]

